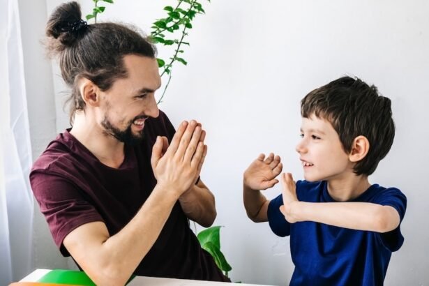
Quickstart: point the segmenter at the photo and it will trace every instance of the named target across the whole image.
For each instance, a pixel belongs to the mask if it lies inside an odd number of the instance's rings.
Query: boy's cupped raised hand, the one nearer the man
[[[243,182],[245,186],[253,190],[266,190],[278,183],[275,178],[282,172],[282,169],[280,156],[270,153],[265,158],[265,154],[260,154],[244,171]]]

